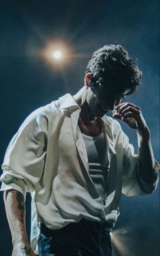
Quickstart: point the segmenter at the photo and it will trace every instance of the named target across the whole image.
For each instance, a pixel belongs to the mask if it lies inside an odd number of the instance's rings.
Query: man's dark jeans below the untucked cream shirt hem
[[[42,224],[38,246],[39,256],[112,256],[108,227],[84,219],[60,230]]]

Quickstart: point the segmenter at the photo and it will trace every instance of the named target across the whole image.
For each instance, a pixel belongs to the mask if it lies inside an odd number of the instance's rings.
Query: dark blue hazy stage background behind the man
[[[3,3],[5,2],[5,3]],[[138,59],[142,86],[129,96],[142,109],[159,160],[159,1],[1,1],[0,4],[1,155],[33,110],[83,85],[92,52],[121,44]],[[66,54],[56,62],[50,51]],[[137,152],[136,132],[127,133]],[[0,252],[12,254],[12,240],[0,194]],[[114,256],[159,256],[159,186],[154,194],[122,196],[113,232]],[[30,196],[26,200],[30,231]]]

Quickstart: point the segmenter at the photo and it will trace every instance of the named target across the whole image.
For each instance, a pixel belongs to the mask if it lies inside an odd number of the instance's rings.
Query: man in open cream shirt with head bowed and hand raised
[[[140,108],[121,103],[140,77],[121,45],[105,45],[89,60],[77,94],[37,109],[20,126],[1,175],[12,256],[38,250],[39,256],[112,255],[110,232],[121,191],[149,194],[157,185],[158,164]],[[137,130],[138,155],[119,122],[104,115],[113,109],[113,117]],[[32,194],[32,247],[24,221],[26,192]]]

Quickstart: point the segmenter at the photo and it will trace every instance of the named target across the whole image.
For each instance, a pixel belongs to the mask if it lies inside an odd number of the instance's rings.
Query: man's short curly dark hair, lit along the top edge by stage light
[[[132,94],[140,86],[142,72],[121,45],[104,45],[89,60],[86,73],[92,73],[91,88],[103,92]]]

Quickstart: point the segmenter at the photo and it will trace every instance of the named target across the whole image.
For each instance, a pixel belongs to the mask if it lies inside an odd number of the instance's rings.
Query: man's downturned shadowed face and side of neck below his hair
[[[113,92],[103,93],[99,88],[88,88],[86,91],[86,101],[92,115],[102,117],[109,110],[113,110],[115,106],[121,103],[123,94],[115,94]]]

